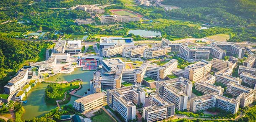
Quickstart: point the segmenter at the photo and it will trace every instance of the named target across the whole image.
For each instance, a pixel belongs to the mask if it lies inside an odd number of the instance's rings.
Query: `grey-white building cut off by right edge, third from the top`
[[[242,80],[242,82],[249,84],[250,86],[255,86],[256,84],[256,76],[246,72],[242,72],[240,74],[240,79]]]

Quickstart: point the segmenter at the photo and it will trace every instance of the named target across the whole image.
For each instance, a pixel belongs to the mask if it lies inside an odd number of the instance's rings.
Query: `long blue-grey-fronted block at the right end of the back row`
[[[211,43],[211,45],[215,45],[221,48],[222,50],[227,51],[227,53],[232,53],[234,55],[237,55],[238,58],[243,58],[245,53],[245,48],[242,48],[232,43]]]

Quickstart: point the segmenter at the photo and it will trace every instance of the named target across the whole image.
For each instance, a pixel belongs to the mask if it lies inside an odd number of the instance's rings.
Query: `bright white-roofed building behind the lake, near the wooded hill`
[[[81,53],[81,40],[68,41],[68,44],[65,46],[65,53],[79,54]]]

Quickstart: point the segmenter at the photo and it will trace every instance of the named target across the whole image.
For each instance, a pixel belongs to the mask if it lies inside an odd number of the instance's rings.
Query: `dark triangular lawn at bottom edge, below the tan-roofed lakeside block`
[[[114,120],[102,109],[94,114],[96,114],[96,116],[91,117],[92,122],[114,122]]]

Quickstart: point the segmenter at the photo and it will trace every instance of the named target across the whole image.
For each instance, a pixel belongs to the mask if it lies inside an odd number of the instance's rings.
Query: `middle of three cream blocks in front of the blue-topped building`
[[[141,44],[141,45],[136,45],[136,46],[131,46],[131,47],[125,47],[123,48],[123,57],[126,58],[132,58],[135,56],[140,56],[143,54],[145,49],[148,49],[149,46],[146,44]]]

